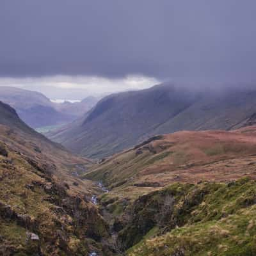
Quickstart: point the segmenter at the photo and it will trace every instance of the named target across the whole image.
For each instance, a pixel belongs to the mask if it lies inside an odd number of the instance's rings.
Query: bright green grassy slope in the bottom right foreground
[[[148,221],[153,225],[148,232],[138,232],[136,225],[127,227],[129,232],[144,235],[140,243],[128,250],[127,255],[256,255],[255,180],[190,186],[173,184],[148,196],[147,205],[138,214],[148,214]],[[166,204],[170,198],[175,202],[172,207]],[[156,205],[161,204],[162,212],[157,212],[158,218],[152,218]],[[164,229],[161,221],[166,215],[169,223],[167,221]]]

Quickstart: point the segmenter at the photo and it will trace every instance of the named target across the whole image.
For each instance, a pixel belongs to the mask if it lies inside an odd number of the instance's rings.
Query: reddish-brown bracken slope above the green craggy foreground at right
[[[148,141],[109,157],[84,177],[102,180],[113,191],[256,178],[256,126],[230,132],[182,131]]]

